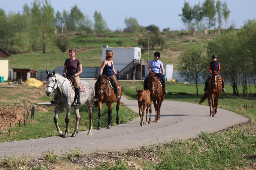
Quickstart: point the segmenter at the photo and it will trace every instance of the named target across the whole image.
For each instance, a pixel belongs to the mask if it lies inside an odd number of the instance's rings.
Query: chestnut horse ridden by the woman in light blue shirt
[[[147,89],[150,91],[151,103],[154,103],[156,118],[155,122],[160,122],[161,114],[160,109],[164,100],[165,94],[163,93],[162,85],[160,83],[161,78],[157,77],[157,73],[149,73],[149,83]],[[160,79],[160,80],[159,80]]]

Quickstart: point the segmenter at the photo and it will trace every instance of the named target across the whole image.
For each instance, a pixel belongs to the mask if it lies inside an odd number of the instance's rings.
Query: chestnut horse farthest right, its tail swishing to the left
[[[199,104],[204,102],[206,98],[208,98],[208,103],[210,107],[210,116],[216,117],[217,116],[217,106],[218,106],[218,100],[220,98],[220,93],[222,91],[222,82],[224,81],[221,76],[219,76],[220,71],[214,71],[212,73],[210,78],[210,81],[208,83],[208,89],[207,92],[205,92],[204,96],[202,96],[201,100],[199,101]],[[215,95],[215,98],[214,98]],[[211,102],[212,102],[212,111],[211,111]]]

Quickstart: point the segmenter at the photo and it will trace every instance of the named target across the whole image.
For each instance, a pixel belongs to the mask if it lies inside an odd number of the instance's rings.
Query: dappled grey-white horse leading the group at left
[[[80,81],[80,83],[84,86],[85,91],[81,92],[80,94],[80,100],[81,104],[76,104],[74,102],[75,100],[75,92],[72,89],[70,82],[67,78],[63,77],[62,75],[58,74],[56,71],[53,70],[53,72],[49,73],[48,70],[46,70],[46,74],[48,75],[46,78],[47,82],[47,88],[46,88],[46,95],[51,96],[53,92],[55,92],[54,100],[56,103],[55,107],[55,116],[54,116],[54,123],[56,125],[58,134],[62,138],[68,137],[68,123],[69,123],[69,115],[71,107],[74,107],[74,112],[76,114],[76,128],[74,130],[74,133],[71,135],[71,137],[75,137],[78,133],[78,126],[80,122],[80,114],[79,109],[80,106],[85,103],[88,111],[89,111],[89,131],[87,135],[91,135],[91,129],[92,129],[92,106],[94,103],[94,91],[92,86],[85,81]],[[73,104],[73,105],[72,105]],[[66,130],[65,134],[60,130],[57,120],[58,116],[60,114],[60,111],[62,108],[67,109],[67,115],[66,115]]]

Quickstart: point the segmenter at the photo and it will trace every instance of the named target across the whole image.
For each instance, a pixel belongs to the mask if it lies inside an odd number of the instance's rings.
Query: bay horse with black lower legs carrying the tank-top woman
[[[111,117],[111,106],[112,103],[116,102],[116,124],[119,125],[120,121],[119,121],[119,117],[118,117],[118,110],[119,110],[119,105],[121,103],[121,96],[122,96],[122,88],[121,88],[121,84],[119,82],[118,83],[118,88],[119,88],[119,96],[120,99],[116,99],[115,93],[114,93],[114,89],[110,86],[109,81],[107,80],[107,78],[109,76],[97,76],[95,75],[95,77],[98,79],[97,82],[95,83],[95,87],[97,88],[97,92],[98,92],[98,107],[99,107],[99,122],[98,122],[98,127],[97,129],[100,130],[101,127],[101,109],[102,109],[102,104],[106,103],[106,105],[108,106],[108,116],[109,116],[109,120],[108,120],[108,126],[107,129],[110,129],[112,127],[112,117]]]

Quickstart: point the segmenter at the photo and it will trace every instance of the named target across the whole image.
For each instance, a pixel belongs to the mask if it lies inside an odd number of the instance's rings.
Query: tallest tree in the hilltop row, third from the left
[[[205,0],[202,7],[203,7],[204,16],[208,20],[208,28],[210,29],[211,27],[215,26],[215,21],[216,21],[216,18],[215,18],[216,10],[214,6],[214,0]]]

